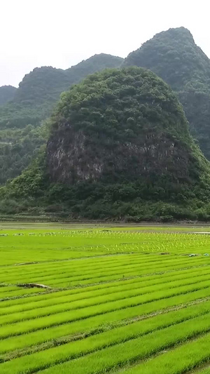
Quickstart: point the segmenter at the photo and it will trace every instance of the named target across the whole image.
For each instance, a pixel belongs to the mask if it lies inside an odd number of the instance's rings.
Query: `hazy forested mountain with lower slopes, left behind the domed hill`
[[[118,67],[122,62],[122,58],[102,53],[66,70],[41,67],[27,74],[19,88],[14,88],[13,100],[0,107],[0,184],[20,175],[45,143],[42,121],[62,91],[92,72]],[[0,95],[1,90],[3,87]]]

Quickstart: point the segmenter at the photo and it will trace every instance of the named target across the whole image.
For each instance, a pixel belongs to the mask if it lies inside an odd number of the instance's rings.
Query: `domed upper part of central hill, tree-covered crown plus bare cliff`
[[[112,100],[107,96],[111,87]],[[195,177],[192,140],[179,102],[162,80],[144,69],[95,74],[64,95],[53,121],[47,146],[52,182],[110,183],[160,175],[184,182]]]

